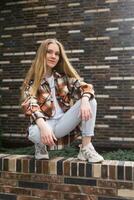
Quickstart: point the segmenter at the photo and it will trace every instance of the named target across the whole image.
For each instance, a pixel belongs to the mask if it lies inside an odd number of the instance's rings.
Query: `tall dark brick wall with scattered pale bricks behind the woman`
[[[96,143],[134,144],[134,1],[0,1],[0,118],[25,136],[20,86],[40,42],[56,37],[98,101]]]

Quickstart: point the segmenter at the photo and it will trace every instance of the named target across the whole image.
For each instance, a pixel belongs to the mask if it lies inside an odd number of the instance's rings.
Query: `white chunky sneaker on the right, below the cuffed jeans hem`
[[[92,163],[102,162],[104,160],[104,158],[96,152],[92,143],[89,143],[83,148],[80,146],[80,151],[77,158],[83,161],[88,160],[88,162]]]

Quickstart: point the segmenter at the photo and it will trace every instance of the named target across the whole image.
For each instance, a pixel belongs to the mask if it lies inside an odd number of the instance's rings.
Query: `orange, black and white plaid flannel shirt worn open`
[[[91,84],[87,84],[76,78],[53,72],[56,98],[64,112],[66,112],[84,94],[94,97]],[[33,81],[30,81],[25,89],[25,100],[21,106],[26,116],[30,116],[32,122],[38,118],[50,119],[55,114],[55,107],[48,82],[43,79],[36,96],[30,95]]]

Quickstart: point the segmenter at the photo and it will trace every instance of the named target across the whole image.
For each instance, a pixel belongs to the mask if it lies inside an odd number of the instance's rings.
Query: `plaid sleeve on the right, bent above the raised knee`
[[[94,88],[92,84],[77,80],[76,78],[68,78],[68,84],[71,95],[81,98],[84,94],[90,94],[90,99],[94,98]]]

